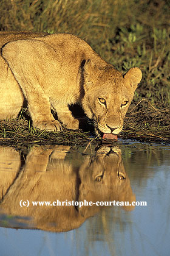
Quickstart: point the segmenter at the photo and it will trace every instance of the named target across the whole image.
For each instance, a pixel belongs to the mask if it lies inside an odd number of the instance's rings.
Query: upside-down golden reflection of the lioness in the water
[[[1,167],[9,166],[15,161],[18,152],[7,150]],[[9,151],[11,154],[8,154]],[[67,154],[69,152],[69,154]],[[116,152],[116,154],[115,154]],[[4,153],[2,153],[4,156]],[[13,154],[13,155],[12,155]],[[74,157],[77,155],[77,158]],[[75,207],[66,206],[36,206],[32,201],[72,202],[84,201],[135,201],[130,180],[124,170],[121,151],[118,148],[102,147],[97,155],[89,156],[71,151],[68,146],[53,148],[32,148],[26,157],[25,164],[19,169],[21,160],[16,158],[17,165],[13,166],[13,179],[10,172],[0,171],[0,213],[21,216],[27,226],[53,232],[64,232],[75,229],[83,224],[87,218],[94,216],[104,207],[92,205]],[[2,165],[2,166],[1,166]],[[12,170],[11,170],[12,171]],[[16,172],[19,172],[16,176]],[[120,176],[124,179],[120,179]],[[8,182],[7,182],[8,181]],[[29,207],[20,207],[19,202],[29,200]],[[124,207],[133,210],[134,206]],[[21,220],[19,220],[21,221]],[[18,227],[17,224],[15,227]]]

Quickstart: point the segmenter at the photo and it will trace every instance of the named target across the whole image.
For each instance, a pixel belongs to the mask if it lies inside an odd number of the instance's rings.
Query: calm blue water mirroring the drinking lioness
[[[20,154],[1,146],[0,255],[168,256],[169,150],[131,141]],[[64,205],[32,203],[44,201]],[[84,201],[147,205],[66,205]]]

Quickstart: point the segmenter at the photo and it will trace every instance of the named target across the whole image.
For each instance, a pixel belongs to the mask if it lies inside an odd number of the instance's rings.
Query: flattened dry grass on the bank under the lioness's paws
[[[21,146],[27,144],[81,144],[94,141],[89,132],[82,130],[63,130],[63,132],[47,132],[29,125],[23,116],[0,122],[0,144]],[[95,142],[100,141],[96,139]]]

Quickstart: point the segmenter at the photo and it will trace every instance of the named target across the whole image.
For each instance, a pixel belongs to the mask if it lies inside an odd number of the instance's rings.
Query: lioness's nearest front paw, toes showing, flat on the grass
[[[33,123],[33,126],[40,130],[49,130],[52,132],[60,132],[63,130],[60,122],[57,120],[48,122],[35,122]]]

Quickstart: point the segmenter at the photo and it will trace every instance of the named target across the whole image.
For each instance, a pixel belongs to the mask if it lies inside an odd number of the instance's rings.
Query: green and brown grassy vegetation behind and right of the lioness
[[[169,23],[169,0],[1,0],[0,6],[0,30],[72,33],[118,70],[140,67],[143,79],[120,135],[129,138],[170,140]],[[0,129],[9,138],[4,123]]]

